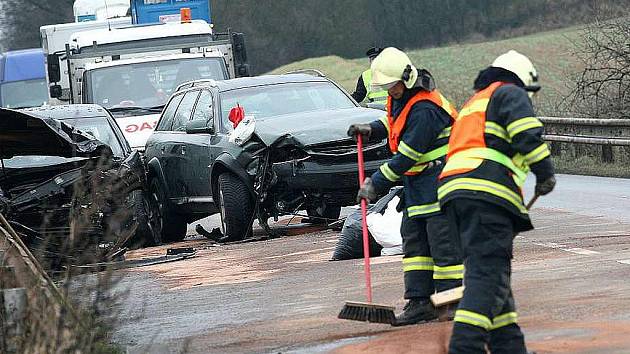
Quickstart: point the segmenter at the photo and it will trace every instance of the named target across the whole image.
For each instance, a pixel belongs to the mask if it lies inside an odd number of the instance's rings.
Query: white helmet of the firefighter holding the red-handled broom
[[[388,90],[398,81],[412,88],[418,79],[418,70],[411,63],[411,59],[400,49],[389,47],[383,49],[371,65],[372,88]]]

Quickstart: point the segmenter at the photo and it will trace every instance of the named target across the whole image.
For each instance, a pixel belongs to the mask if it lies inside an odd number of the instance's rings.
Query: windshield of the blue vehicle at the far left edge
[[[2,107],[39,107],[48,102],[46,79],[7,82],[0,86]]]

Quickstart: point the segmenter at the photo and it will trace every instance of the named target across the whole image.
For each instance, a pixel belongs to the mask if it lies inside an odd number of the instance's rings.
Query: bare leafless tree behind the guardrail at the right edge
[[[567,101],[571,113],[630,118],[630,18],[587,26],[577,45],[584,70]]]

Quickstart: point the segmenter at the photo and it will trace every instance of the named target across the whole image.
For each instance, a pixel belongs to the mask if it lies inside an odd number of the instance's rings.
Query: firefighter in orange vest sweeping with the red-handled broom
[[[448,220],[437,199],[438,176],[444,166],[448,137],[457,112],[435,88],[426,70],[409,57],[386,48],[371,65],[372,85],[387,90],[387,117],[350,126],[348,135],[379,141],[388,138],[393,157],[366,178],[358,199],[375,200],[402,180],[403,271],[408,300],[396,325],[437,318],[429,297],[461,285],[463,265],[451,243]]]

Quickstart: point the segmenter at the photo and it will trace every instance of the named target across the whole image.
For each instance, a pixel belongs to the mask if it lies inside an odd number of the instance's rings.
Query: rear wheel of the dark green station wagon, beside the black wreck
[[[176,242],[181,241],[186,237],[187,224],[184,220],[178,218],[178,216],[171,212],[166,201],[166,194],[164,193],[160,183],[153,179],[150,185],[150,202],[154,204],[151,208],[154,212],[157,212],[156,221],[154,223],[154,232],[158,234],[160,241],[162,242]]]

